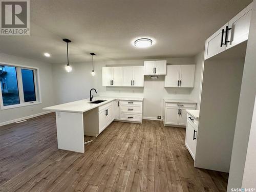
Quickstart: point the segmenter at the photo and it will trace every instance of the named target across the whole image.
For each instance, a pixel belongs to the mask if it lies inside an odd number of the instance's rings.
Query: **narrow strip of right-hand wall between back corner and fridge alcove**
[[[194,89],[191,91],[190,99],[197,102],[197,109],[200,109],[202,77],[204,67],[204,51],[195,56],[196,71]]]

